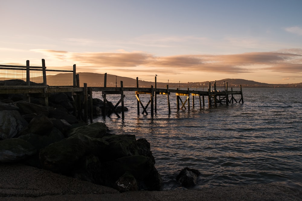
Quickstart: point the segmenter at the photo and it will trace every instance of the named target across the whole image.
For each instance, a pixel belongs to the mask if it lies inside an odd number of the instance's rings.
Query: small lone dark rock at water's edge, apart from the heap
[[[184,187],[193,187],[197,184],[199,174],[198,170],[185,167],[177,175],[176,180]]]

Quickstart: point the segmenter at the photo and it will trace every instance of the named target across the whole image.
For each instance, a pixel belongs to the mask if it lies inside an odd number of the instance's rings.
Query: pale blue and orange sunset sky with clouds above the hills
[[[301,0],[1,0],[0,63],[301,83],[301,9]]]

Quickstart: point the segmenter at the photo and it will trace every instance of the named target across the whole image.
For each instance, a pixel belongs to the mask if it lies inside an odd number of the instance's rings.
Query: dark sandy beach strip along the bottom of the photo
[[[302,190],[278,184],[120,193],[21,164],[0,164],[0,174],[0,200],[302,200]]]

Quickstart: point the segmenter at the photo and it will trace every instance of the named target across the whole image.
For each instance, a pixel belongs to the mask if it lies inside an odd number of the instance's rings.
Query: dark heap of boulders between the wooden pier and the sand
[[[47,107],[21,94],[2,97],[0,164],[22,163],[120,192],[162,190],[149,142],[112,135],[101,122],[83,123],[68,95],[53,94]]]

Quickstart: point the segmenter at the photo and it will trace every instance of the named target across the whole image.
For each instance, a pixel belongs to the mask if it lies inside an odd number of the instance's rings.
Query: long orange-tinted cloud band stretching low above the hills
[[[35,49],[51,58],[65,59],[81,68],[110,68],[116,71],[148,71],[169,74],[215,72],[226,74],[251,73],[258,70],[282,73],[302,72],[302,49],[277,52],[247,52],[229,55],[174,55],[156,57],[146,52],[67,52]]]

